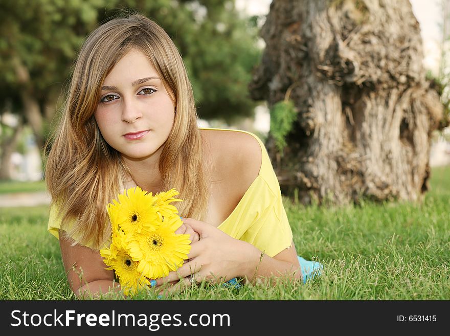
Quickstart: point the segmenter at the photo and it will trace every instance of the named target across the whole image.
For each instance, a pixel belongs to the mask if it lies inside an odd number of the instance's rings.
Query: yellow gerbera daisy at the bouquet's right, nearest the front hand
[[[182,225],[179,217],[165,218],[153,232],[135,235],[128,244],[130,256],[139,261],[138,272],[150,279],[165,277],[176,271],[188,258],[191,241],[187,234],[175,234]]]

